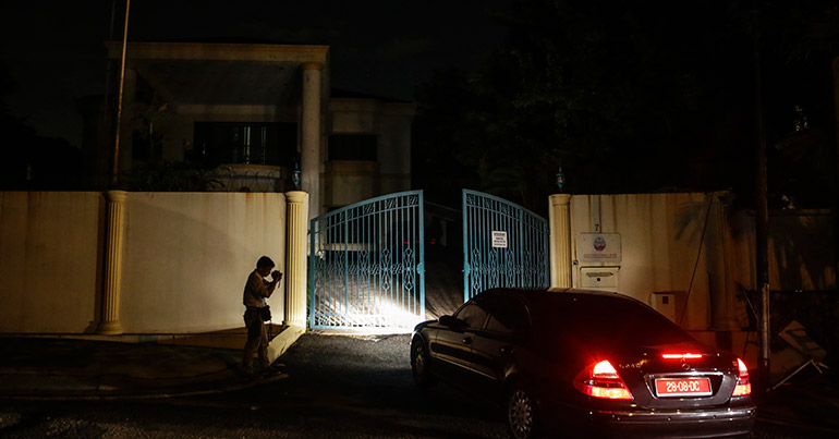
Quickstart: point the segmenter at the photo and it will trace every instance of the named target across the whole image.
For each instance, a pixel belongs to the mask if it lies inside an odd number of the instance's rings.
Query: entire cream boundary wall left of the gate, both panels
[[[101,193],[0,192],[0,332],[84,333],[100,313]],[[125,333],[243,326],[256,259],[284,271],[279,193],[127,193],[120,321]],[[282,285],[282,283],[281,283]],[[269,300],[283,319],[283,290]]]

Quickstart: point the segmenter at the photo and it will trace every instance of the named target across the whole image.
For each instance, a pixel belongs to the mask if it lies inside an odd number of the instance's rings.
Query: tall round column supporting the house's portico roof
[[[301,126],[301,190],[309,194],[308,215],[320,211],[320,70],[324,64],[306,62],[303,69],[303,118]]]

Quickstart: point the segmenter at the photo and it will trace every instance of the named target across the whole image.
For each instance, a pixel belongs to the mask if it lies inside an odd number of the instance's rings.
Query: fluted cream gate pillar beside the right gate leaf
[[[550,286],[571,288],[571,195],[550,196]]]

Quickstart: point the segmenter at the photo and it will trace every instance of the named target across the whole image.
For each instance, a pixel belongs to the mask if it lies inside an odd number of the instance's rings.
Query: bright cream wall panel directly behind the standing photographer
[[[285,197],[278,193],[129,193],[120,320],[126,333],[243,326],[256,259],[284,271]],[[283,291],[269,300],[282,321]]]

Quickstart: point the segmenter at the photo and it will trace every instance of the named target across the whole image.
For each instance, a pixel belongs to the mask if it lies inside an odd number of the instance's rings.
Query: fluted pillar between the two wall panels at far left
[[[122,333],[120,325],[120,285],[122,281],[122,241],[125,234],[125,191],[108,191],[108,230],[105,249],[105,289],[102,315],[97,333]]]

